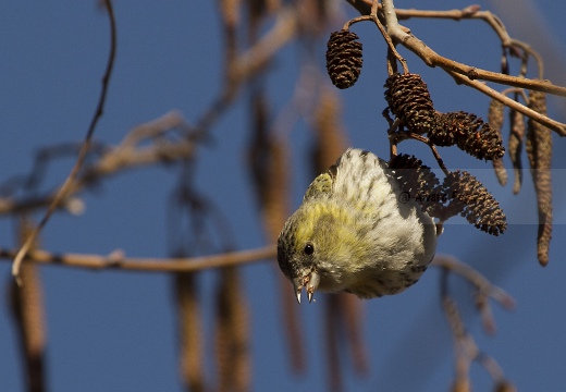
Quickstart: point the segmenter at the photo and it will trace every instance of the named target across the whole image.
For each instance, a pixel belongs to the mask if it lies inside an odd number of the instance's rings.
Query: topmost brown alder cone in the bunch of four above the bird
[[[417,134],[435,127],[434,106],[420,75],[395,73],[387,77],[384,87],[389,109],[403,126]]]

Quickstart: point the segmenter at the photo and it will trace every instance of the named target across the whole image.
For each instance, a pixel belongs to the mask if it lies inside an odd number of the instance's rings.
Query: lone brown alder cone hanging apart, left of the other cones
[[[352,87],[361,72],[361,42],[356,33],[346,29],[330,35],[327,49],[327,70],[337,88]]]

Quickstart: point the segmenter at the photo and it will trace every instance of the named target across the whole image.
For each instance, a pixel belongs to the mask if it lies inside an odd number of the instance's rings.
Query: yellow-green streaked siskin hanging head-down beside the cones
[[[360,298],[418,281],[436,248],[433,219],[401,189],[387,162],[348,149],[308,187],[278,240],[278,261],[298,303],[305,287]]]

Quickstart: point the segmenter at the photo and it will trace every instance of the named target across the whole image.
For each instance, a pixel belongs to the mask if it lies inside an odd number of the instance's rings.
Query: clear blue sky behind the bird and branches
[[[499,11],[509,11],[513,1],[493,2]],[[540,2],[542,3],[542,2]],[[480,2],[489,9],[489,2]],[[464,1],[397,1],[396,5],[463,8]],[[350,16],[353,10],[345,8]],[[100,89],[108,51],[108,20],[95,1],[10,2],[0,5],[0,181],[32,169],[35,152],[45,146],[78,142],[83,138]],[[216,2],[116,2],[118,57],[104,115],[96,139],[116,144],[135,125],[156,119],[172,109],[188,122],[198,119],[212,101],[222,82],[220,27]],[[563,15],[566,4],[552,2],[541,9],[543,23],[552,39],[530,41],[522,26],[507,23],[512,36],[533,47],[553,48],[564,58],[566,49]],[[506,14],[507,12],[505,12]],[[509,17],[513,15],[509,14]],[[336,25],[336,28],[343,23]],[[413,32],[434,50],[455,60],[497,70],[501,56],[495,35],[479,21],[408,21]],[[360,79],[341,91],[344,122],[353,146],[378,155],[386,154],[385,122],[381,110],[385,69],[384,44],[370,24],[354,27],[365,47]],[[532,36],[531,36],[532,37]],[[540,36],[533,38],[539,39]],[[544,39],[544,36],[542,36]],[[562,40],[561,40],[562,39]],[[316,49],[323,66],[325,41]],[[442,111],[466,110],[487,115],[489,99],[453,81],[440,70],[429,69],[402,49],[411,72],[420,73],[429,85],[435,107]],[[285,48],[268,78],[272,107],[280,110],[293,94],[299,48]],[[555,60],[557,61],[557,60]],[[549,77],[556,62],[547,63]],[[564,65],[564,64],[563,64]],[[558,70],[563,70],[564,66]],[[512,71],[517,70],[513,63]],[[563,83],[565,85],[566,83]],[[264,236],[249,188],[243,149],[249,120],[247,100],[227,111],[212,131],[211,140],[199,150],[196,168],[198,191],[220,206],[232,224],[237,248],[259,247]],[[377,109],[378,108],[378,109]],[[552,99],[550,115],[566,122],[564,99]],[[382,130],[379,134],[377,130]],[[310,140],[304,124],[293,130],[295,166],[294,199],[298,206],[310,181],[303,170],[308,159],[302,154]],[[566,293],[563,280],[566,266],[562,206],[566,187],[566,162],[555,143],[554,241],[551,261],[541,268],[536,260],[534,224],[510,224],[500,237],[479,232],[462,220],[454,220],[441,237],[439,252],[451,254],[480,270],[512,294],[517,307],[504,311],[493,304],[497,334],[485,335],[479,317],[467,304],[470,292],[462,281],[453,287],[465,309],[465,319],[479,346],[496,358],[508,378],[522,391],[561,391],[566,385]],[[407,142],[407,152],[419,154],[432,164],[427,150]],[[489,164],[459,151],[442,149],[450,167],[469,169],[502,204],[510,222],[537,222],[532,183],[528,173],[518,196],[510,186],[501,187]],[[526,161],[526,160],[525,160]],[[56,161],[49,167],[44,188],[63,181],[73,160]],[[506,161],[507,168],[510,166]],[[235,170],[233,168],[236,168]],[[57,215],[49,222],[41,245],[53,252],[109,254],[116,248],[128,256],[162,257],[168,254],[167,203],[177,171],[158,167],[133,170],[104,181],[83,199],[81,217]],[[0,221],[0,246],[13,247],[14,222]],[[281,295],[274,290],[279,271],[273,262],[243,268],[246,295],[253,309],[253,384],[264,390],[327,390],[323,367],[321,309],[319,303],[303,305],[302,326],[308,336],[308,370],[291,372],[288,351],[281,329]],[[180,391],[175,346],[175,315],[171,278],[163,273],[119,271],[91,272],[59,267],[42,267],[48,332],[48,382],[56,391]],[[9,262],[0,264],[0,291],[10,283]],[[429,270],[407,292],[366,303],[365,338],[371,368],[359,377],[348,360],[346,390],[446,390],[453,377],[452,341],[441,314],[439,272]],[[204,308],[212,306],[217,281],[213,272],[201,274]],[[458,283],[460,283],[458,285]],[[292,295],[291,286],[288,295]],[[16,334],[4,304],[0,307],[0,390],[23,390]],[[210,321],[210,314],[207,313]],[[275,339],[274,339],[275,336]],[[207,342],[211,347],[211,341]],[[207,363],[207,366],[211,366]],[[487,390],[489,381],[478,366],[472,368],[476,390]]]

